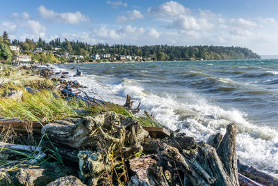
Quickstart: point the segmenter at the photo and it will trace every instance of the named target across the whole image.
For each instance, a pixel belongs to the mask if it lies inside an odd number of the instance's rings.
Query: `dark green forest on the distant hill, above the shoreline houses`
[[[13,40],[13,45],[20,45],[23,50],[42,47],[45,50],[51,50],[53,47],[59,47],[58,52],[70,52],[71,54],[92,55],[92,54],[111,54],[142,56],[145,59],[158,61],[186,60],[190,58],[204,60],[220,60],[220,59],[261,59],[250,49],[243,47],[221,47],[221,46],[170,46],[170,45],[152,45],[152,46],[136,46],[136,45],[108,45],[99,43],[97,45],[88,45],[85,42],[68,41],[63,42],[56,38],[50,42],[45,42],[41,38],[38,42],[26,39],[25,42]]]

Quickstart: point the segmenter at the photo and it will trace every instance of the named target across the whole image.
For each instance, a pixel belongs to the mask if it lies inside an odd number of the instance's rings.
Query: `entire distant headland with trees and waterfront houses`
[[[261,59],[261,56],[243,47],[223,46],[174,46],[174,45],[108,45],[87,42],[46,42],[10,40],[4,31],[0,36],[0,61],[35,63],[99,63],[123,61],[195,61],[227,59]]]

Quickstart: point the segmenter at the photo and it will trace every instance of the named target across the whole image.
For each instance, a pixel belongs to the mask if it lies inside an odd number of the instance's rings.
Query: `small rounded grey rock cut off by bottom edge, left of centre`
[[[83,184],[81,180],[79,180],[79,178],[76,178],[75,176],[61,177],[47,184],[47,186],[69,186],[69,185],[85,186],[85,184]]]

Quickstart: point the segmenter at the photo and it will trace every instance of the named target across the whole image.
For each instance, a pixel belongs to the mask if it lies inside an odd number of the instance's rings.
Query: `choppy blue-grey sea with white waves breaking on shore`
[[[278,60],[179,61],[56,65],[89,95],[141,102],[163,125],[198,141],[238,125],[237,155],[278,175]],[[74,70],[70,70],[74,68]],[[83,77],[73,77],[75,70]],[[135,107],[134,106],[134,107]]]

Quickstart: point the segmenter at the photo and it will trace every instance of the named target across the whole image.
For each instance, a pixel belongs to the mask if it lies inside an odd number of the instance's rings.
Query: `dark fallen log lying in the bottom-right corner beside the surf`
[[[238,161],[238,172],[264,185],[270,185],[270,186],[278,185],[277,178],[270,176],[267,173],[264,173],[263,171],[259,171],[253,166],[242,164],[239,161]]]

